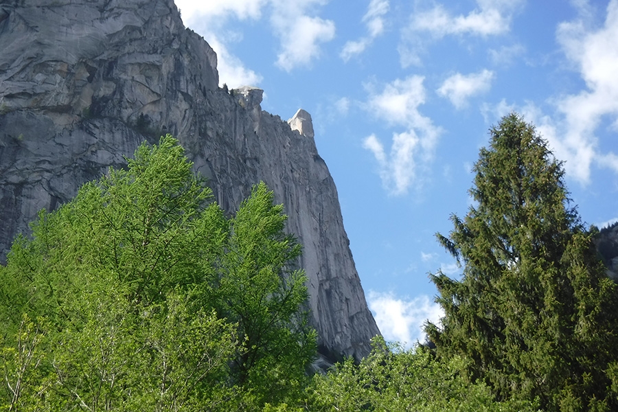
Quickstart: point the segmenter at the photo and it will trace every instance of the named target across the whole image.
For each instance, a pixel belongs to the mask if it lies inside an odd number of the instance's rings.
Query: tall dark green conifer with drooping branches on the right
[[[616,285],[569,207],[562,165],[517,115],[490,134],[474,166],[477,205],[438,235],[464,276],[431,276],[446,314],[426,328],[437,354],[464,358],[468,379],[499,399],[617,409],[606,374],[618,360]]]

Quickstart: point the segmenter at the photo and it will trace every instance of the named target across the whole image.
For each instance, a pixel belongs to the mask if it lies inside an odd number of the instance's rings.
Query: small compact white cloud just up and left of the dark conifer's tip
[[[444,80],[437,93],[448,98],[456,108],[463,108],[471,96],[489,91],[494,77],[494,72],[489,70],[470,73],[467,76],[455,73]]]

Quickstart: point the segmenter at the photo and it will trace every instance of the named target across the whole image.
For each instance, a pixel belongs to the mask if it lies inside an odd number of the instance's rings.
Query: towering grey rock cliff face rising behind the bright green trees
[[[262,111],[262,90],[218,88],[216,54],[172,0],[2,0],[0,251],[45,207],[172,133],[233,211],[265,181],[304,244],[321,354],[361,357],[379,334],[311,118]]]

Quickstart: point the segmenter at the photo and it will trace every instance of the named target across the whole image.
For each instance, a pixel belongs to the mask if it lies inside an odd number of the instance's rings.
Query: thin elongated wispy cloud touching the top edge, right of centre
[[[477,7],[468,14],[452,14],[444,5],[436,4],[428,10],[415,10],[409,25],[402,30],[399,46],[402,65],[420,64],[420,52],[428,39],[444,36],[494,36],[510,31],[514,14],[525,0],[477,0]]]

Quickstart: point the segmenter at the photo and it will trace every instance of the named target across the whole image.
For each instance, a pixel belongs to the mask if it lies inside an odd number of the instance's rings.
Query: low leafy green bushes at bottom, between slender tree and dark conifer
[[[402,350],[373,341],[374,350],[356,365],[352,359],[314,376],[308,389],[309,411],[534,411],[526,401],[494,402],[482,382],[468,383],[461,358],[436,361],[422,347]]]

